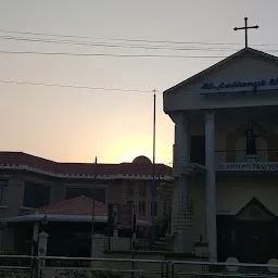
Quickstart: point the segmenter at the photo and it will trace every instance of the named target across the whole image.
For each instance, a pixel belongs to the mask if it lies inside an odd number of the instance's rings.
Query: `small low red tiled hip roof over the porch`
[[[93,200],[80,195],[41,208],[28,211],[26,214],[55,214],[55,215],[92,215]],[[108,215],[108,206],[104,203],[94,201],[94,215]]]

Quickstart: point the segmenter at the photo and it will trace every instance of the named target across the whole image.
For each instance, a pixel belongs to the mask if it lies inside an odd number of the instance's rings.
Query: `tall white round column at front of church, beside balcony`
[[[210,261],[217,261],[216,185],[215,185],[215,112],[205,114],[206,238]]]

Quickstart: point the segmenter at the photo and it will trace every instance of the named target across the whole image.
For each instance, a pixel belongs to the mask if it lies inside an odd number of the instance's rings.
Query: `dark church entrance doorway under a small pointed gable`
[[[277,217],[253,198],[236,215],[217,216],[218,260],[266,264],[278,256]]]

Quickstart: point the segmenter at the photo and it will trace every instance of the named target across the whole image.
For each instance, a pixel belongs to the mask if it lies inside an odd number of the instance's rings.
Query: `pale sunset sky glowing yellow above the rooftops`
[[[250,46],[278,51],[277,0],[1,0],[0,4],[0,150],[54,161],[90,162],[98,156],[101,163],[117,163],[140,154],[151,159],[156,88],[156,161],[168,164],[174,124],[163,112],[161,92],[241,49],[244,34],[233,27],[242,26],[245,16],[249,24],[260,25],[250,31]]]

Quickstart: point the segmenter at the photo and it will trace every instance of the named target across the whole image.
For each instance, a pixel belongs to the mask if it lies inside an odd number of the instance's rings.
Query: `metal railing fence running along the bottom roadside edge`
[[[148,257],[148,256],[146,256]],[[16,260],[33,262],[13,265]],[[23,261],[24,261],[23,260]],[[35,264],[34,264],[35,260]],[[23,262],[21,261],[21,262]],[[72,263],[71,263],[72,262]],[[1,278],[216,278],[277,277],[278,264],[211,263],[138,258],[0,256]]]

